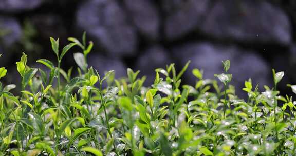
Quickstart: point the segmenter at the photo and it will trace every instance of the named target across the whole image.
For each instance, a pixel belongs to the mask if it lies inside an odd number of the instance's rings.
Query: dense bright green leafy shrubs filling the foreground
[[[85,34],[81,42],[69,38],[64,48],[59,40],[50,41],[58,65],[40,59],[48,72],[31,68],[23,53],[16,62],[20,94],[10,93],[16,85],[0,83],[0,155],[296,153],[295,102],[276,90],[284,72],[273,70],[274,86],[264,86],[264,92],[246,81],[247,100],[229,85],[228,60],[223,62],[225,73],[215,75],[221,83],[203,79],[203,71],[194,69],[196,85],[181,85],[188,62],[180,72],[174,64],[156,69],[154,84],[144,87],[139,71],[127,69],[127,77],[117,80],[114,71],[102,76],[89,68],[93,43],[86,43]],[[71,77],[72,68],[60,68],[73,46],[82,49],[74,53],[76,77]],[[6,72],[0,68],[0,79]],[[288,86],[296,92],[296,86]]]

